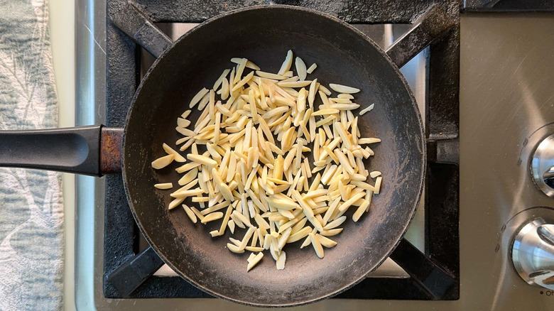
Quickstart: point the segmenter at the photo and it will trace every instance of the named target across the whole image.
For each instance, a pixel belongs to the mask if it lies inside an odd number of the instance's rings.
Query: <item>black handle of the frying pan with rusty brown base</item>
[[[121,172],[123,129],[102,125],[0,131],[0,167],[101,176]]]

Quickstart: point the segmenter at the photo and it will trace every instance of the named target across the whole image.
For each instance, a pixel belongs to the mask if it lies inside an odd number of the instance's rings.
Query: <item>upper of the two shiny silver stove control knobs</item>
[[[554,135],[541,141],[533,153],[531,174],[537,187],[554,197]]]

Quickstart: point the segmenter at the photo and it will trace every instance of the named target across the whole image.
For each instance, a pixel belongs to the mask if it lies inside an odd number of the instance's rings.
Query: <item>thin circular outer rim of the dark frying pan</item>
[[[178,45],[180,43],[181,40],[185,40],[191,33],[197,31],[199,28],[202,28],[202,26],[205,26],[207,25],[208,23],[212,23],[214,21],[217,21],[219,20],[220,18],[225,18],[227,16],[230,16],[230,15],[234,15],[235,13],[241,13],[241,12],[245,12],[245,11],[256,11],[256,10],[259,10],[259,9],[287,9],[287,10],[295,10],[295,11],[303,11],[303,12],[307,12],[307,13],[311,13],[311,14],[315,14],[315,15],[320,15],[320,16],[324,16],[325,18],[329,18],[330,20],[334,21],[335,23],[338,23],[340,24],[340,26],[343,26],[345,28],[348,28],[350,31],[353,31],[354,33],[357,34],[357,36],[359,36],[359,38],[363,38],[364,41],[366,41],[366,43],[369,43],[371,44],[375,50],[379,51],[379,53],[381,53],[381,56],[384,57],[384,59],[386,60],[386,62],[389,63],[389,65],[391,66],[391,68],[394,70],[394,72],[396,73],[396,76],[401,80],[403,86],[404,86],[404,89],[406,89],[406,92],[408,94],[408,97],[411,99],[411,106],[414,110],[414,113],[415,113],[415,116],[416,116],[416,119],[418,120],[418,124],[419,124],[419,129],[420,129],[420,137],[422,138],[421,139],[421,144],[420,146],[418,146],[420,148],[420,155],[421,155],[421,168],[420,168],[420,178],[418,180],[418,196],[417,196],[417,200],[414,200],[413,204],[411,205],[411,212],[410,212],[410,217],[408,219],[407,222],[405,222],[404,226],[402,227],[401,231],[398,232],[398,237],[396,238],[396,241],[394,241],[393,243],[393,246],[389,249],[389,251],[386,252],[386,255],[383,256],[381,258],[380,261],[378,261],[378,263],[376,263],[376,265],[371,268],[369,271],[367,271],[366,274],[362,275],[360,278],[356,279],[356,280],[352,280],[351,282],[349,282],[349,285],[346,285],[342,288],[339,288],[337,290],[335,290],[334,292],[332,293],[327,293],[326,295],[321,295],[319,297],[315,297],[315,298],[308,298],[308,299],[305,299],[303,300],[302,302],[293,302],[293,303],[283,303],[283,304],[266,304],[266,303],[254,303],[254,302],[251,302],[251,301],[244,301],[244,300],[239,300],[237,298],[232,298],[232,297],[229,297],[229,296],[225,296],[225,295],[221,295],[219,293],[216,293],[214,292],[213,290],[210,290],[209,288],[205,288],[204,286],[198,284],[197,282],[195,282],[195,280],[192,280],[191,278],[188,277],[188,275],[185,275],[184,273],[182,273],[180,271],[180,269],[176,268],[173,263],[171,263],[171,261],[169,261],[165,255],[163,254],[162,251],[160,251],[160,249],[158,249],[158,246],[156,244],[153,243],[153,241],[151,240],[151,237],[146,233],[145,229],[143,229],[143,226],[141,224],[141,222],[139,221],[139,217],[138,215],[136,214],[136,210],[134,209],[134,204],[132,204],[132,201],[131,201],[131,194],[129,192],[129,187],[128,187],[128,183],[127,182],[127,175],[126,175],[126,161],[125,161],[125,150],[126,150],[126,133],[127,133],[127,129],[128,129],[128,126],[129,126],[129,119],[131,117],[131,111],[134,109],[134,104],[136,103],[136,99],[139,97],[139,94],[140,94],[140,91],[142,89],[142,86],[144,83],[146,83],[146,81],[148,80],[148,77],[151,75],[151,72],[156,68],[156,66],[158,65],[159,62],[161,62],[161,60],[163,60],[163,58],[165,57],[165,55],[167,53],[170,52],[170,50],[173,50],[173,48],[175,47],[175,45]],[[317,302],[317,301],[320,301],[320,300],[325,300],[327,298],[331,298],[335,295],[338,295],[340,293],[343,293],[344,291],[348,290],[349,288],[352,288],[354,285],[357,285],[358,283],[360,283],[362,280],[364,280],[364,278],[366,278],[366,275],[369,275],[369,273],[372,273],[373,271],[376,270],[376,268],[378,268],[379,266],[381,266],[381,264],[386,260],[386,258],[389,258],[389,256],[391,255],[391,253],[396,249],[396,247],[398,246],[398,244],[400,243],[401,239],[403,239],[403,236],[406,234],[406,231],[408,229],[408,227],[410,226],[412,220],[413,220],[413,217],[415,216],[415,211],[418,207],[418,203],[419,201],[421,200],[421,195],[423,193],[423,187],[424,187],[424,181],[425,181],[425,170],[426,170],[426,167],[427,167],[427,154],[426,154],[426,150],[425,150],[425,141],[426,141],[426,138],[425,138],[425,128],[423,126],[423,121],[422,121],[422,118],[421,118],[421,115],[420,115],[420,111],[418,109],[418,106],[417,106],[417,103],[415,102],[415,97],[413,96],[413,92],[411,91],[410,87],[408,86],[408,82],[406,82],[406,79],[403,77],[402,73],[400,72],[400,70],[398,69],[398,66],[396,66],[396,64],[391,60],[391,58],[389,57],[389,55],[387,55],[383,49],[381,49],[379,47],[379,45],[377,45],[374,40],[372,40],[371,38],[369,38],[369,36],[366,36],[365,33],[362,33],[362,31],[359,31],[357,28],[354,28],[353,26],[351,26],[349,23],[346,23],[345,21],[342,21],[340,18],[337,18],[335,16],[331,16],[327,13],[324,13],[322,11],[317,11],[315,9],[309,9],[309,8],[305,8],[305,7],[300,7],[300,6],[290,6],[290,5],[282,5],[282,4],[268,4],[268,5],[259,5],[259,6],[246,6],[244,8],[240,8],[240,9],[234,9],[232,11],[227,11],[227,12],[224,12],[224,13],[221,13],[217,16],[214,16],[212,18],[209,18],[207,19],[206,21],[198,24],[197,26],[195,26],[194,28],[190,29],[190,31],[188,31],[187,33],[185,33],[183,36],[180,36],[180,38],[178,38],[177,40],[175,40],[169,48],[167,48],[166,50],[163,51],[163,53],[153,62],[153,65],[151,65],[151,67],[148,69],[148,71],[146,72],[146,75],[144,75],[143,79],[141,80],[139,86],[137,87],[137,90],[131,100],[131,105],[129,107],[129,110],[127,111],[127,115],[126,115],[126,121],[125,121],[125,124],[124,124],[124,134],[123,134],[123,141],[122,141],[122,146],[123,146],[123,152],[122,152],[122,155],[121,155],[121,173],[122,173],[122,178],[123,178],[123,185],[124,185],[124,190],[125,190],[125,193],[126,193],[126,197],[127,197],[127,200],[129,202],[129,207],[131,208],[131,213],[133,214],[133,217],[135,219],[135,222],[137,224],[137,226],[139,227],[139,230],[141,231],[141,234],[143,234],[143,236],[145,237],[145,239],[148,241],[148,244],[152,247],[152,249],[154,251],[156,251],[156,254],[158,256],[160,256],[160,258],[163,260],[164,263],[166,263],[170,268],[173,269],[173,271],[175,271],[176,273],[178,273],[178,275],[181,277],[181,278],[184,278],[185,280],[187,280],[189,283],[192,283],[193,285],[195,285],[195,287],[197,288],[200,288],[200,290],[203,290],[205,291],[206,293],[209,293],[210,295],[213,295],[214,297],[217,297],[217,298],[222,298],[224,300],[229,300],[229,301],[232,301],[232,302],[237,302],[241,305],[249,305],[249,306],[254,306],[254,307],[295,307],[295,306],[300,306],[300,305],[307,305],[307,304],[310,304],[310,303],[313,303],[313,302]],[[413,185],[413,184],[412,184]]]

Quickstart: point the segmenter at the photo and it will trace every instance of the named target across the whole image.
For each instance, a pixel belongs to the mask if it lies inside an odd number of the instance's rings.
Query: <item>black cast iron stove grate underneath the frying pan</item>
[[[340,5],[337,5],[339,2]],[[459,53],[458,1],[325,0],[272,1],[331,13],[349,23],[412,23],[387,50],[401,67],[430,47],[425,129],[428,170],[425,189],[425,253],[403,239],[391,254],[410,278],[366,278],[335,296],[349,299],[457,300],[459,285]],[[269,1],[249,1],[249,5]],[[124,126],[140,82],[141,47],[157,57],[170,40],[154,23],[198,23],[238,9],[237,0],[204,2],[107,1],[107,126]],[[342,9],[337,9],[342,8]],[[438,38],[437,38],[438,37]],[[433,40],[433,38],[436,38]],[[152,249],[139,253],[140,231],[126,201],[121,175],[106,176],[104,295],[107,298],[212,297],[183,278],[152,276],[161,260]]]

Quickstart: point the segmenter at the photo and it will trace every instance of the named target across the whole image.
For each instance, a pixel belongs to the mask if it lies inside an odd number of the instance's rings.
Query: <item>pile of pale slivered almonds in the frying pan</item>
[[[317,79],[306,80],[315,64],[307,69],[295,58],[294,75],[290,50],[277,73],[260,71],[246,58],[231,62],[237,65],[224,70],[212,89],[192,98],[189,107],[202,111],[194,127],[189,129],[190,110],[177,119],[183,138],[175,145],[183,144],[179,151],[190,148],[189,162],[165,143],[168,155],[152,162],[156,169],[185,163],[176,168],[184,174],[178,181],[182,187],[170,194],[175,200],[169,209],[181,204],[195,224],[222,219],[212,236],[222,236],[227,227],[232,234],[239,234],[236,227],[246,229],[242,239],[229,238],[227,248],[251,252],[247,271],[264,250],[283,269],[284,246],[301,239],[300,249],[312,244],[323,258],[323,247],[337,244],[328,236],[340,234],[344,213],[355,208],[352,220],[357,222],[381,188],[381,173],[364,168],[363,159],[374,152],[362,146],[380,140],[360,138],[358,116],[352,113],[360,107],[352,102],[359,89],[329,84],[338,93],[331,97]],[[170,182],[155,186],[173,188]],[[199,208],[182,204],[188,197]]]

